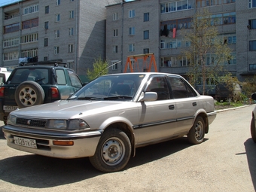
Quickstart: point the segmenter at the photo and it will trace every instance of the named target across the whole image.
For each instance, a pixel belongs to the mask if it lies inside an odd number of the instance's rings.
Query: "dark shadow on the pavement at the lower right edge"
[[[246,140],[244,145],[247,155],[248,167],[251,173],[251,181],[254,185],[254,190],[256,191],[256,144],[250,138]]]

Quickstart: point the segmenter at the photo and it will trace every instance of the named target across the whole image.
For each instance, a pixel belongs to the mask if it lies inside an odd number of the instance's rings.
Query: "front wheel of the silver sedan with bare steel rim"
[[[131,143],[129,137],[121,130],[105,130],[96,152],[89,157],[90,163],[102,172],[117,172],[123,169],[131,156]]]

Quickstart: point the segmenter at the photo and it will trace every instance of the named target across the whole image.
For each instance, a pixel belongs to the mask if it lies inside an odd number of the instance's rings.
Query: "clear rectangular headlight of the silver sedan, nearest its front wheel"
[[[80,119],[75,120],[48,120],[48,129],[53,130],[86,130],[90,126]]]

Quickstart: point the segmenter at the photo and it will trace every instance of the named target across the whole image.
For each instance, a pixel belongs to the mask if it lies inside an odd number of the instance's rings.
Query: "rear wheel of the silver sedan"
[[[203,117],[197,117],[194,125],[187,134],[187,139],[191,144],[200,144],[203,142],[206,133],[206,126]]]

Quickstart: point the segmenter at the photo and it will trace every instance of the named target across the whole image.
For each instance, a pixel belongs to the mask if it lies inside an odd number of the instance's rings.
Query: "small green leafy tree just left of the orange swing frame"
[[[98,78],[100,75],[108,74],[108,62],[103,60],[100,56],[94,59],[93,70],[87,69],[87,76],[89,81]]]

